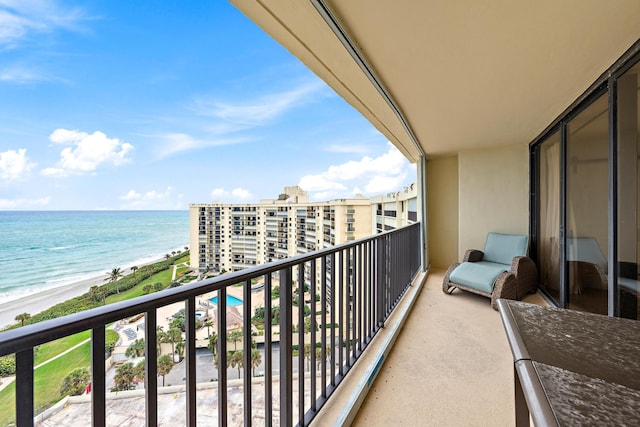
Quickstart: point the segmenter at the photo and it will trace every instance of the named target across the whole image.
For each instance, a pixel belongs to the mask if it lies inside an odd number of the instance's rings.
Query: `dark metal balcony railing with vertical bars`
[[[420,224],[416,223],[352,243],[0,333],[0,356],[16,355],[17,424],[34,423],[34,349],[41,344],[91,330],[91,422],[96,426],[106,425],[105,328],[120,319],[142,313],[146,424],[157,425],[157,310],[170,304],[184,303],[184,414],[187,425],[196,425],[196,299],[203,294],[217,292],[216,333],[220,339],[217,342],[218,400],[214,411],[217,411],[218,424],[227,425],[230,417],[228,355],[227,340],[223,339],[227,337],[227,329],[220,325],[227,325],[227,289],[242,283],[243,424],[264,422],[272,425],[279,420],[281,425],[307,425],[384,325],[418,273],[420,252]],[[254,279],[264,281],[264,287],[259,291],[264,292],[264,318],[272,318],[274,305],[271,296],[276,282],[279,284],[281,307],[277,324],[264,322],[265,371],[264,378],[259,381],[251,375],[250,368],[253,350],[251,322],[254,316],[251,300],[252,293],[256,292],[252,289]],[[303,298],[295,297],[295,292],[300,291],[298,284],[305,282],[309,284],[308,292],[302,290]],[[294,301],[298,299],[302,301]],[[308,321],[305,320],[306,310],[294,310],[296,305],[303,304],[310,308]],[[279,333],[274,333],[277,328]],[[310,350],[308,357],[306,354],[303,356],[306,345],[318,350]],[[274,349],[277,357],[273,356]],[[298,356],[294,356],[297,351]],[[307,358],[310,363],[305,369]],[[259,403],[259,410],[264,419],[262,416],[254,418],[257,399],[252,395],[255,394],[263,396],[261,401],[264,403]]]

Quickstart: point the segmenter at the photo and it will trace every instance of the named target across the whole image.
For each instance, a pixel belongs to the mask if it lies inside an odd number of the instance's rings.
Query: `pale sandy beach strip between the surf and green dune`
[[[148,264],[162,261],[158,259]],[[146,265],[146,264],[145,264]],[[130,274],[130,269],[122,270],[125,275]],[[51,289],[45,289],[31,295],[0,303],[0,328],[7,325],[17,323],[15,318],[20,313],[29,313],[34,315],[56,304],[67,301],[71,298],[80,296],[89,291],[92,286],[104,285],[107,272],[90,279],[81,280],[68,285],[58,286]]]

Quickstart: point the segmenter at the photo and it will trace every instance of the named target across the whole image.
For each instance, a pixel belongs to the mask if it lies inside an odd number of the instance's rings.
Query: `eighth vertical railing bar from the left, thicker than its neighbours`
[[[280,425],[293,424],[291,267],[280,270]]]

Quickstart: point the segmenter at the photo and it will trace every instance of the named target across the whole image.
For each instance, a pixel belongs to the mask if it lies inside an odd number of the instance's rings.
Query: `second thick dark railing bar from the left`
[[[91,425],[103,427],[106,425],[106,382],[104,378],[104,325],[91,330]]]

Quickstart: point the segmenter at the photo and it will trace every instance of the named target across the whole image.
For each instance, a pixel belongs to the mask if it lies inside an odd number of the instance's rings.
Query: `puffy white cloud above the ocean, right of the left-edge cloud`
[[[77,130],[56,129],[49,139],[56,144],[70,145],[60,152],[55,168],[45,168],[45,176],[62,177],[94,172],[102,164],[121,165],[130,161],[127,154],[133,145],[117,138],[108,138],[103,132],[92,134]]]

